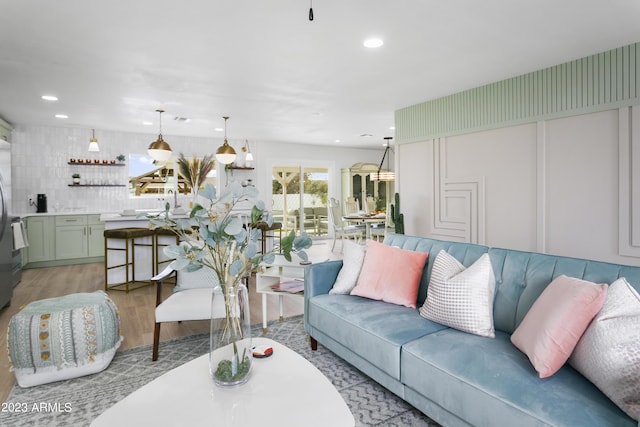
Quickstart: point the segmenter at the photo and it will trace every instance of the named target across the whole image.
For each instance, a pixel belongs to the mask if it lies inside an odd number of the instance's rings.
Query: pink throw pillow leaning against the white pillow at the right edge
[[[606,296],[606,284],[559,276],[533,303],[511,342],[529,357],[540,378],[550,377],[569,359]]]

